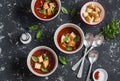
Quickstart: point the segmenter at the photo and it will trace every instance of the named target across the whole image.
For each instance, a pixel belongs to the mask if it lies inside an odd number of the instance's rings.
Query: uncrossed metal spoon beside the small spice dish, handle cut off
[[[90,73],[91,73],[92,65],[98,59],[98,52],[96,50],[90,51],[90,53],[88,54],[88,59],[90,61],[90,69],[86,81],[90,81]]]

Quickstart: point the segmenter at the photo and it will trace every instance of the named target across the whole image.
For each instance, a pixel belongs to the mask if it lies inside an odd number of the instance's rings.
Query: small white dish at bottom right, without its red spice
[[[100,74],[100,76],[99,76],[100,79],[99,80],[96,80],[95,77],[94,77],[94,75],[97,71],[99,71],[99,74]],[[102,68],[98,68],[93,72],[93,80],[94,81],[107,81],[107,79],[108,79],[108,73],[107,73],[106,70],[104,70]]]

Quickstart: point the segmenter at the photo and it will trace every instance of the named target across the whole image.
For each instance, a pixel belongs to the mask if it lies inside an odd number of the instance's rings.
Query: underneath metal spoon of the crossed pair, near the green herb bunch
[[[103,43],[103,41],[104,41],[104,36],[103,36],[103,35],[101,35],[101,34],[96,35],[95,38],[94,38],[94,41],[93,41],[93,43],[92,43],[91,48],[86,52],[85,56],[86,56],[94,47],[100,46],[100,45]],[[75,70],[78,68],[78,66],[80,65],[80,63],[82,62],[82,60],[83,60],[83,57],[82,57],[75,65],[73,65],[73,67],[72,67],[72,70],[73,70],[73,71],[75,71]]]

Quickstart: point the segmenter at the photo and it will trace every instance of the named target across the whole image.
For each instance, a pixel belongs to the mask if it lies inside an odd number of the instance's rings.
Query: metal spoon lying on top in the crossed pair
[[[78,71],[78,75],[77,75],[78,78],[81,78],[81,77],[82,77],[82,72],[83,72],[83,66],[84,66],[84,61],[85,61],[86,52],[87,52],[87,49],[92,45],[93,39],[94,39],[93,34],[87,33],[87,34],[85,35],[85,40],[84,40],[85,52],[84,52],[84,56],[83,56],[83,60],[82,60],[80,69],[79,69],[79,71]]]

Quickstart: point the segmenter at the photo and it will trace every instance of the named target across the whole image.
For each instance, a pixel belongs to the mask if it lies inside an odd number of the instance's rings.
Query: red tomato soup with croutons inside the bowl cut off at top
[[[42,19],[50,19],[58,12],[56,0],[36,0],[34,11]]]

